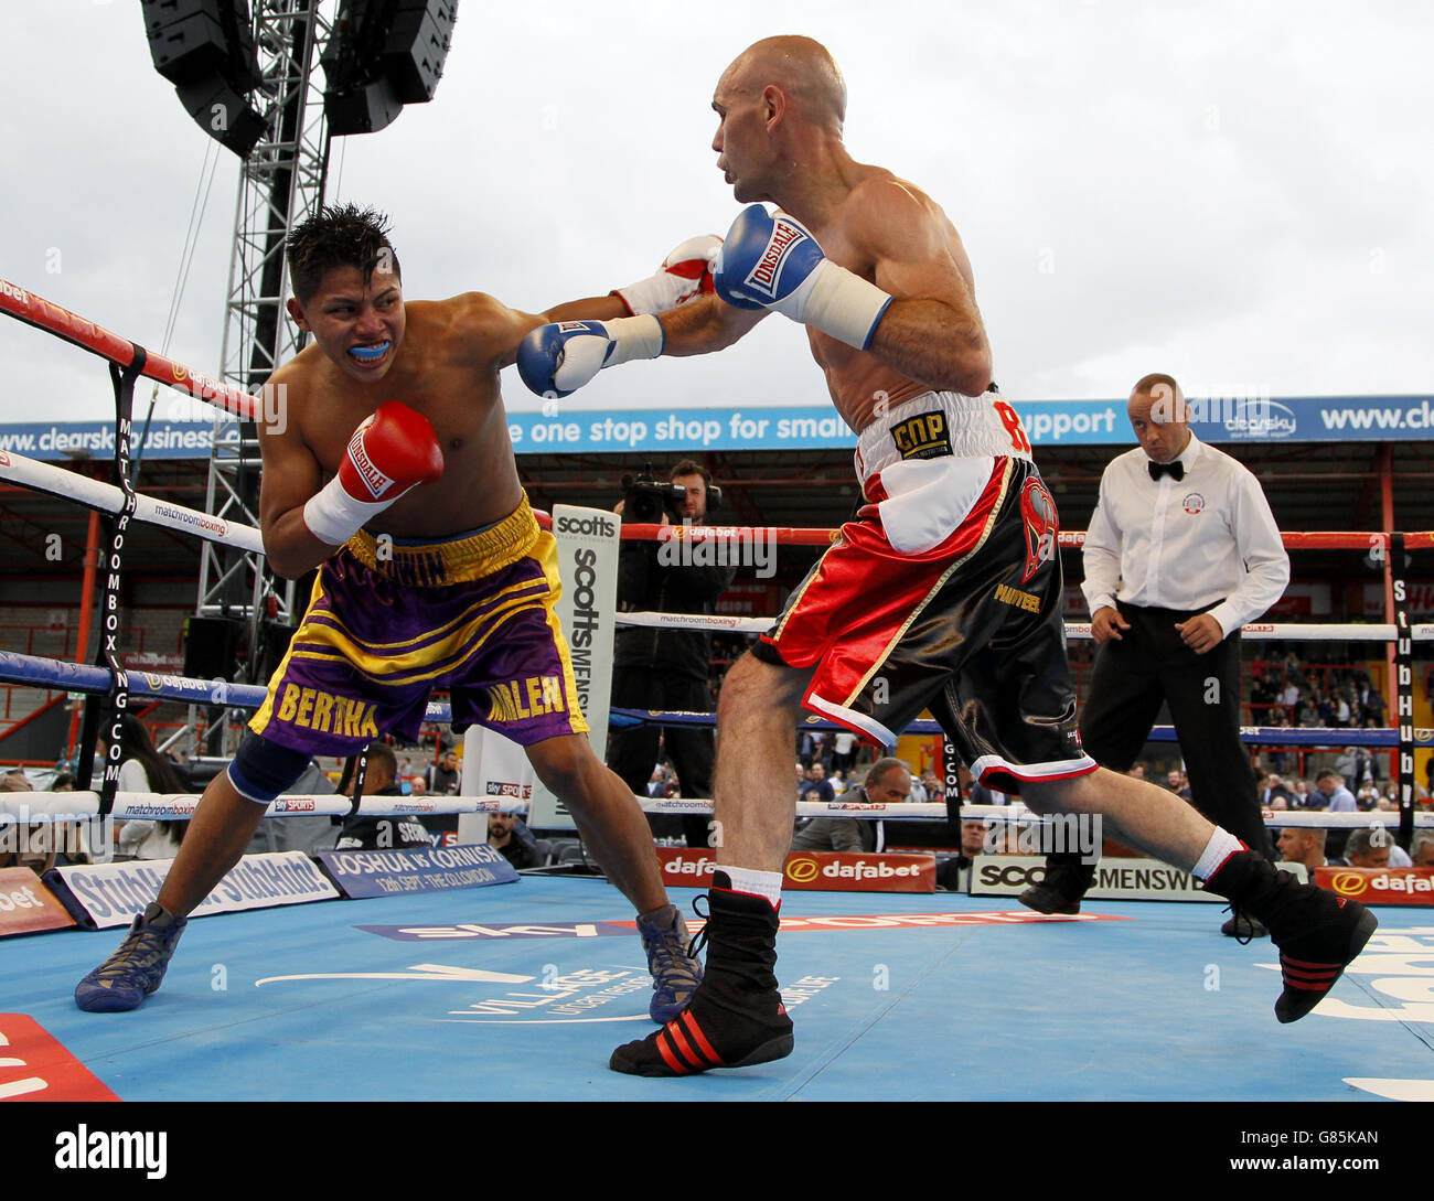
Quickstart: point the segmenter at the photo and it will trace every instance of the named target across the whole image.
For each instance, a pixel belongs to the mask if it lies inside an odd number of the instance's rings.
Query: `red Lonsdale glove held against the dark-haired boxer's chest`
[[[443,474],[443,450],[422,413],[390,400],[358,423],[336,474],[304,504],[320,542],[343,546],[376,513]]]

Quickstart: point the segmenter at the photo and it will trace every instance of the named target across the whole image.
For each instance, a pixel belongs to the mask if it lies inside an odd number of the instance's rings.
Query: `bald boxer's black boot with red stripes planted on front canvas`
[[[777,911],[764,897],[731,890],[713,873],[703,982],[663,1029],[612,1052],[608,1066],[635,1076],[690,1076],[749,1068],[792,1053],[792,1019],[777,992]],[[694,942],[695,950],[695,942]]]

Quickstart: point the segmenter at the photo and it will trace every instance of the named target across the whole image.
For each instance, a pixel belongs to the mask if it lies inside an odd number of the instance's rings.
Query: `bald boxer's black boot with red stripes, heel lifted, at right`
[[[1205,887],[1229,900],[1236,919],[1242,910],[1258,919],[1279,947],[1281,1022],[1298,1022],[1319,1005],[1380,924],[1358,901],[1301,884],[1253,851],[1229,856]]]

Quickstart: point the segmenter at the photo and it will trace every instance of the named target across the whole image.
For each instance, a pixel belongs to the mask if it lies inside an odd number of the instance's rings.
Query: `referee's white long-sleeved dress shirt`
[[[1193,433],[1180,457],[1184,477],[1150,479],[1143,447],[1100,477],[1086,533],[1090,612],[1117,600],[1144,608],[1207,611],[1229,635],[1285,593],[1289,556],[1259,480]]]

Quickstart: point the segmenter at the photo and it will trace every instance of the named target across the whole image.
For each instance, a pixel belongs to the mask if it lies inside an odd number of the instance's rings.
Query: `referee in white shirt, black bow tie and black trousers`
[[[1169,704],[1196,808],[1273,860],[1239,737],[1239,631],[1283,595],[1289,556],[1259,480],[1190,433],[1170,375],[1140,380],[1126,411],[1140,447],[1106,469],[1086,535],[1081,590],[1100,649],[1081,741],[1103,767],[1127,771]],[[1094,870],[1077,854],[1048,856],[1044,881],[1021,901],[1078,913]],[[1265,933],[1233,919],[1223,932]]]

